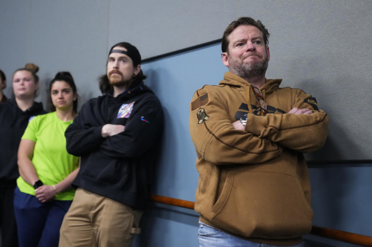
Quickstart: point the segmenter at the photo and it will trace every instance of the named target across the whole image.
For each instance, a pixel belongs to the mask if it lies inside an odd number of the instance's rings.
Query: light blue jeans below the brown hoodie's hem
[[[234,237],[219,231],[199,221],[198,231],[199,247],[280,247],[269,244],[259,244]],[[304,242],[291,247],[303,247]],[[283,246],[282,246],[283,247]]]

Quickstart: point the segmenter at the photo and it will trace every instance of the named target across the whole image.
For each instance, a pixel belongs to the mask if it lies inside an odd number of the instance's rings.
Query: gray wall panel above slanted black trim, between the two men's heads
[[[133,41],[144,59],[219,39],[234,18],[235,5],[222,0],[110,0],[109,44]]]

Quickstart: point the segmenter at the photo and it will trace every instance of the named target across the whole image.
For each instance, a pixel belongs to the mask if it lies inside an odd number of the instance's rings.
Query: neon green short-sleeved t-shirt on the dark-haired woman
[[[39,179],[45,185],[58,184],[68,174],[78,168],[78,157],[67,153],[65,130],[73,121],[63,122],[56,112],[35,116],[29,123],[21,139],[35,142],[32,164]],[[17,179],[20,191],[35,195],[33,185],[22,177]],[[55,195],[55,200],[73,200],[75,190],[71,189]]]

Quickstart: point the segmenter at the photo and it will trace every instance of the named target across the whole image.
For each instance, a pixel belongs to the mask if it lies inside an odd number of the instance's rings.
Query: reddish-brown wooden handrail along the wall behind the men
[[[161,195],[150,195],[150,200],[172,206],[194,209],[195,202],[185,201],[176,198],[163,197]],[[359,246],[372,247],[372,237],[364,236],[356,233],[349,233],[347,231],[340,231],[331,228],[312,226],[310,234],[324,238],[330,238],[337,241],[356,244]]]

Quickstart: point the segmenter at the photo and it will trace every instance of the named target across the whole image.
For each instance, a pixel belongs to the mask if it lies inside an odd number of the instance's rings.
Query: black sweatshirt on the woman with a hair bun
[[[32,116],[45,113],[38,102],[24,112],[13,100],[0,103],[0,184],[14,183],[19,177],[17,152],[23,132]]]

